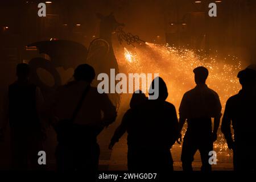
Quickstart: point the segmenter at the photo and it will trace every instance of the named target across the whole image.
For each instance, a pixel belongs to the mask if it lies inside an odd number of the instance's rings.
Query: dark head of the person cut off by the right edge
[[[252,88],[256,83],[256,71],[254,69],[246,68],[238,72],[237,77],[243,89]]]

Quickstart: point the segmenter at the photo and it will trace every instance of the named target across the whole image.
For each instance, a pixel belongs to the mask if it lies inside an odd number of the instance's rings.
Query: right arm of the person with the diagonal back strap
[[[104,118],[102,119],[102,121],[104,126],[109,126],[111,123],[115,121],[115,118],[117,118],[117,111],[115,109],[115,106],[109,100],[107,94],[101,94],[101,102],[101,110],[104,113]]]

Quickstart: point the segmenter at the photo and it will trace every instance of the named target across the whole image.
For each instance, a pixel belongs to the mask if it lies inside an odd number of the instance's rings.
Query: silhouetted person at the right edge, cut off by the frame
[[[246,68],[238,73],[242,89],[226,102],[221,131],[233,150],[235,171],[255,172],[256,71]],[[234,140],[230,125],[234,129]]]

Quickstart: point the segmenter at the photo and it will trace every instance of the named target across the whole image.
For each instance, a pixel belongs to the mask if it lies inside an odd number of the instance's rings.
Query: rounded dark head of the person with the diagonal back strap
[[[75,69],[73,77],[75,78],[76,81],[83,80],[91,83],[95,78],[94,68],[89,64],[80,64]]]

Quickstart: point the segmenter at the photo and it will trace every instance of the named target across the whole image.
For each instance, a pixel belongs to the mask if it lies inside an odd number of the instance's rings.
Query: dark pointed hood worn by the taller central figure
[[[159,89],[158,99],[165,101],[168,97],[168,90],[167,90],[166,82],[164,82],[163,78],[161,77],[155,77],[154,80],[151,82],[148,95],[150,96],[154,95],[154,91],[152,91],[152,89],[155,90],[155,83],[154,83],[155,79],[158,79],[158,89]]]

